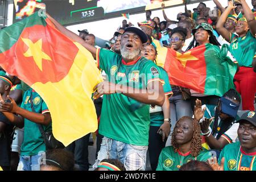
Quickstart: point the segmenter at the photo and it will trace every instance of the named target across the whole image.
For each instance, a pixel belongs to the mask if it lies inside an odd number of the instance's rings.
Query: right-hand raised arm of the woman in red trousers
[[[256,20],[254,14],[251,12],[250,7],[247,5],[245,0],[240,1],[243,6],[243,12],[245,18],[247,20],[248,26],[250,28],[250,32],[253,36],[256,34]]]

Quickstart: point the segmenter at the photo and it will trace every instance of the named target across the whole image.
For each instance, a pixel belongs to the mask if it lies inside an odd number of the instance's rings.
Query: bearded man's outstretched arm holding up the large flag
[[[67,28],[65,28],[64,26],[62,26],[59,22],[57,22],[55,19],[53,19],[48,13],[46,15],[47,15],[47,18],[49,18],[49,20],[51,20],[51,22],[55,25],[57,30],[59,30],[61,33],[63,33],[65,36],[67,36],[68,38],[72,39],[73,41],[80,43],[90,53],[92,53],[94,59],[96,59],[96,51],[97,51],[96,47],[91,46],[91,45],[85,43],[84,40],[82,40],[82,38],[80,38],[78,35],[76,35],[72,31],[70,31]]]

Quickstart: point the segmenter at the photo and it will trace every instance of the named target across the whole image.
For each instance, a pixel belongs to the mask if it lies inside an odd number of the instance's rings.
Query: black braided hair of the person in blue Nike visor
[[[241,103],[241,97],[237,93],[237,91],[234,90],[234,89],[228,90],[228,92],[224,93],[223,97],[228,97],[232,100],[238,101],[239,104]],[[233,122],[236,119],[236,118],[233,118],[233,117],[226,118],[221,123],[220,131],[218,131],[218,117],[220,115],[220,111],[219,111],[218,107],[220,107],[220,100],[218,101],[218,104],[217,104],[217,107],[216,107],[216,111],[215,111],[215,115],[214,115],[215,118],[214,118],[213,129],[212,129],[213,137],[216,137],[216,135],[217,135],[216,139],[219,139],[221,137],[221,135],[224,134],[233,125]]]

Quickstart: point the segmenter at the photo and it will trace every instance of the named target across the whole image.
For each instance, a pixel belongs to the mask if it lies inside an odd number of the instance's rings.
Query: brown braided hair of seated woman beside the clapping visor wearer
[[[191,147],[190,147],[190,151],[191,151],[191,155],[193,157],[196,157],[200,154],[200,151],[202,150],[202,146],[201,146],[201,137],[200,137],[200,125],[199,122],[197,122],[195,119],[188,117],[188,116],[184,116],[182,118],[180,118],[177,122],[180,122],[181,120],[184,119],[189,119],[192,121],[192,126],[193,126],[193,137],[192,137],[192,142],[191,142]],[[175,126],[176,126],[175,125]],[[178,144],[176,142],[175,139],[175,134],[174,132],[172,133],[172,141],[171,141],[172,147],[174,147],[175,152],[177,152],[177,148],[178,148]]]

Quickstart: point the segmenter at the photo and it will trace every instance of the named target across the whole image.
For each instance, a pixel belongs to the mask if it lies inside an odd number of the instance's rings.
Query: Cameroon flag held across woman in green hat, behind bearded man
[[[168,73],[170,84],[196,90],[206,95],[222,96],[234,88],[237,65],[228,56],[228,46],[220,49],[204,44],[179,53],[171,48],[158,52],[158,65]]]

